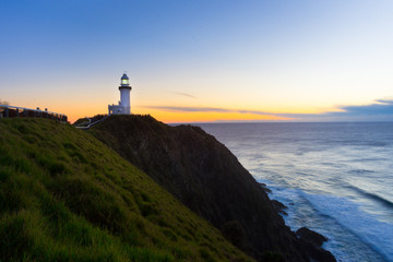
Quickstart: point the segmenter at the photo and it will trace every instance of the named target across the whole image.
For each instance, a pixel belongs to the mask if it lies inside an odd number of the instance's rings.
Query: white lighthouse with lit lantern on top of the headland
[[[124,73],[121,76],[121,82],[119,86],[120,91],[120,100],[119,105],[108,105],[109,116],[110,115],[131,115],[131,104],[130,104],[130,92],[132,87],[129,83],[129,78]]]

